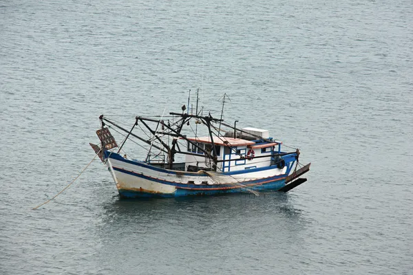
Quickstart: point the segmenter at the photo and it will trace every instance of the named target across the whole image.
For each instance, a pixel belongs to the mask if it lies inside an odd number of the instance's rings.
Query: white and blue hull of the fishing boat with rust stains
[[[232,173],[167,170],[105,152],[106,164],[122,197],[180,197],[227,192],[278,190],[284,187],[288,166]]]

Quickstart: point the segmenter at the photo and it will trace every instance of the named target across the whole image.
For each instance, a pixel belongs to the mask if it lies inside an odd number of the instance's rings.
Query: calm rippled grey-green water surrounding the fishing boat
[[[412,25],[411,0],[0,1],[0,274],[413,274]],[[94,157],[98,115],[198,87],[308,181],[130,201],[96,161],[30,210]]]

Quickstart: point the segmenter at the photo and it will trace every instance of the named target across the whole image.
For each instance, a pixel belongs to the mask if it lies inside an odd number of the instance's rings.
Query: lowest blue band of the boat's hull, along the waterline
[[[262,184],[260,186],[250,187],[248,189],[255,191],[276,191],[279,188],[285,186],[285,179],[278,181],[269,182],[268,184]],[[219,194],[229,194],[229,193],[240,193],[248,192],[246,188],[233,188],[224,190],[187,190],[187,189],[177,189],[171,194],[165,193],[151,193],[151,192],[139,192],[134,190],[119,190],[120,197],[123,198],[140,198],[140,197],[185,197],[185,196],[200,196],[200,195],[219,195]]]

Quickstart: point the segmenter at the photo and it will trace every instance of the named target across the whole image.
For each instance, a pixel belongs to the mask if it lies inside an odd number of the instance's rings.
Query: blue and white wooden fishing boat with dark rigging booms
[[[224,102],[225,98],[222,111]],[[307,180],[300,176],[310,164],[301,166],[299,149],[283,151],[283,142],[270,137],[267,130],[239,129],[237,121],[231,125],[222,120],[222,113],[220,118],[203,115],[198,96],[196,105],[195,112],[183,105],[181,113],[138,115],[131,129],[100,115],[101,127],[96,131],[100,144],[90,145],[107,166],[120,197],[260,195],[287,192]],[[109,129],[123,135],[120,144]],[[145,148],[146,155],[130,157],[125,152],[127,142]]]

